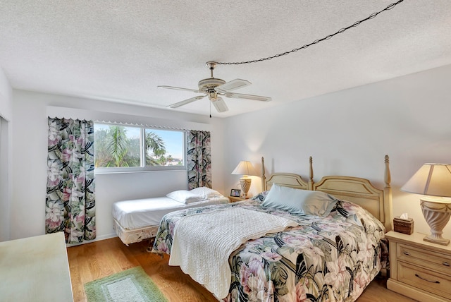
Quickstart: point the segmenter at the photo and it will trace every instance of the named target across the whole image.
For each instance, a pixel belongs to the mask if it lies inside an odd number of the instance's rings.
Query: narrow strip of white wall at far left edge
[[[0,241],[10,238],[12,98],[3,70],[0,68]]]

